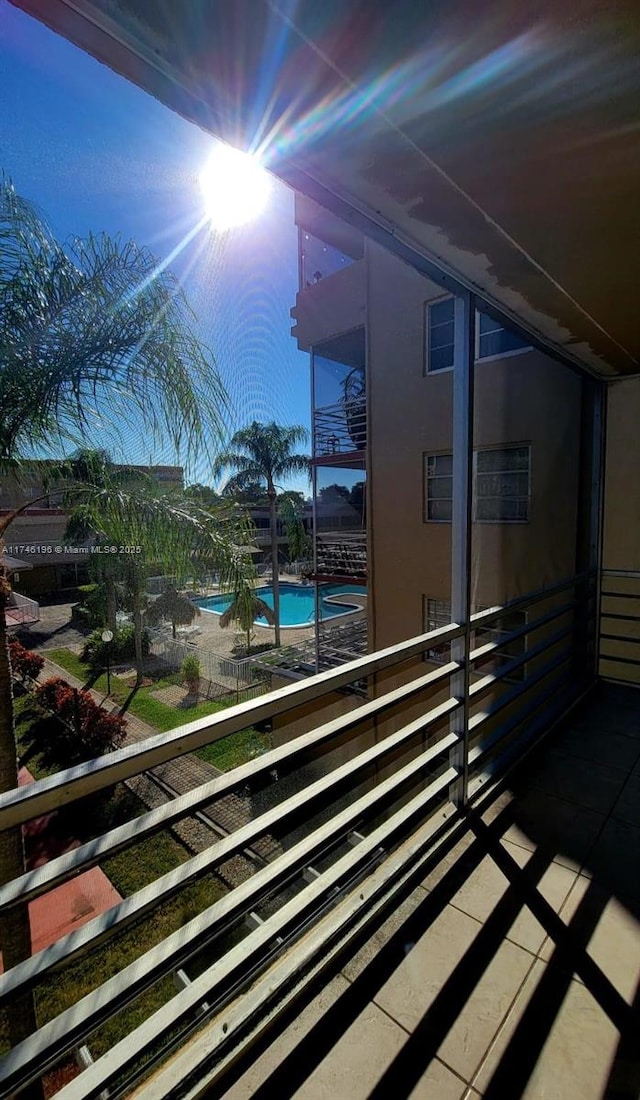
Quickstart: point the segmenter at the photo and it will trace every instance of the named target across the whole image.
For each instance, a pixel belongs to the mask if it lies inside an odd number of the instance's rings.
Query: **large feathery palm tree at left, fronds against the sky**
[[[151,252],[106,234],[63,248],[35,207],[0,177],[0,473],[19,471],[43,446],[90,438],[108,398],[117,403],[121,430],[142,425],[176,449],[202,446],[207,431],[220,439],[227,397],[192,320],[176,278]],[[90,498],[100,492],[107,499],[100,490]],[[141,543],[162,537],[162,522],[144,531],[140,525],[145,512],[157,520],[159,508],[136,512],[124,491],[110,498],[119,521],[135,520]],[[2,517],[0,552],[10,524],[34,503]],[[197,517],[189,518],[189,529],[202,534]],[[132,529],[126,536],[130,544],[136,537]],[[0,791],[18,783],[4,617],[10,591],[0,564]],[[21,829],[2,833],[0,882],[23,870]],[[0,934],[8,970],[31,954],[26,905],[9,911]],[[8,1019],[13,1045],[36,1025],[33,998],[12,1005]]]

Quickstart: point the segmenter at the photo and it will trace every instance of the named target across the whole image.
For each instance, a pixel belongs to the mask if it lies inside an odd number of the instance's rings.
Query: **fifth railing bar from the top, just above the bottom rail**
[[[140,1024],[126,1038],[115,1044],[102,1058],[89,1066],[79,1077],[71,1081],[60,1094],[64,1100],[85,1100],[95,1096],[106,1088],[110,1080],[121,1072],[129,1063],[141,1052],[145,1050],[151,1043],[157,1042],[161,1035],[172,1030],[185,1016],[197,1009],[202,1001],[213,1000],[213,987],[229,988],[234,978],[242,977],[246,972],[247,965],[252,960],[258,960],[264,955],[269,945],[286,933],[288,928],[299,923],[307,914],[318,908],[322,902],[330,900],[331,893],[339,887],[340,882],[353,876],[354,871],[366,862],[376,849],[388,846],[389,840],[397,834],[406,829],[409,818],[419,813],[423,813],[427,806],[439,795],[446,792],[449,784],[455,778],[454,768],[449,768],[442,776],[430,783],[406,806],[394,814],[387,822],[378,826],[369,836],[351,848],[331,868],[323,871],[317,879],[309,883],[296,898],[287,902],[274,916],[268,917],[264,924],[251,932],[245,939],[236,947],[232,948],[222,959],[214,963],[208,970],[199,975],[186,989],[172,998],[168,1004],[158,1009],[153,1016]],[[405,860],[407,856],[405,854]],[[404,861],[405,861],[404,860]],[[365,903],[368,891],[366,883],[358,883],[355,890],[360,904]],[[320,950],[323,937],[307,935],[304,943],[317,941],[316,950]],[[59,1019],[59,1018],[58,1018]],[[48,1025],[45,1025],[48,1026]],[[220,1026],[220,1038],[227,1042],[229,1036],[228,1025]],[[25,1046],[26,1044],[21,1044]],[[9,1055],[20,1052],[15,1047]],[[12,1075],[13,1078],[15,1074]]]

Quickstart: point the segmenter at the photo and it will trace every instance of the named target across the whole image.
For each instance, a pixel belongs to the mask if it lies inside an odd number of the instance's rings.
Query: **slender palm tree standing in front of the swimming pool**
[[[272,542],[272,580],[274,592],[275,641],[280,645],[280,592],[278,576],[277,546],[277,482],[291,474],[309,472],[309,457],[297,454],[294,447],[305,443],[307,431],[300,426],[283,428],[275,421],[258,424],[254,420],[246,428],[236,431],[225,451],[218,455],[213,476],[219,477],[224,470],[236,471],[227,488],[242,493],[249,484],[260,482],[266,485],[269,502],[269,527]]]

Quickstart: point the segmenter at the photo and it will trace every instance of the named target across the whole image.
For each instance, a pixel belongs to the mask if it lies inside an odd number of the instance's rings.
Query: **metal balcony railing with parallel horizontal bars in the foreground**
[[[515,608],[529,613],[509,636],[525,637],[526,652],[475,678],[466,698],[456,696],[452,675],[460,683],[466,672],[468,683],[475,663],[509,640],[472,649],[472,632]],[[80,1100],[109,1089],[112,1098],[126,1096],[161,1060],[154,1097],[175,1096],[178,1087],[191,1094],[189,1084],[213,1080],[250,1035],[271,1026],[304,983],[366,927],[445,835],[465,827],[461,809],[492,791],[582,696],[595,676],[594,628],[594,579],[572,578],[482,612],[470,624],[452,623],[0,796],[0,831],[15,829],[247,726],[300,707],[317,710],[311,732],[2,886],[0,916],[109,856],[131,849],[135,858],[142,839],[205,807],[214,814],[224,796],[250,798],[245,824],[211,834],[192,858],[9,970],[0,1003],[10,1011],[15,998],[57,981],[75,960],[91,958],[189,883],[254,850],[260,838],[273,842],[273,858],[254,861],[234,889],[14,1047],[0,1067],[0,1093],[20,1094],[60,1058],[90,1047],[99,1025],[179,969],[190,970],[191,980],[181,980],[180,991],[113,1040],[63,1094]],[[452,641],[462,657],[435,669],[424,663],[430,650]],[[527,678],[514,686],[509,675],[525,664]],[[334,704],[336,692],[363,680],[369,697],[354,705],[351,695],[351,708],[323,721],[323,702]],[[402,708],[410,721],[402,722]],[[188,1043],[196,1031],[198,1042]]]

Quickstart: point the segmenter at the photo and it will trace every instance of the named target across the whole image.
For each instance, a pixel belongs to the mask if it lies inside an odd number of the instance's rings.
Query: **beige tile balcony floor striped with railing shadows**
[[[640,692],[600,686],[225,1100],[637,1100]]]

